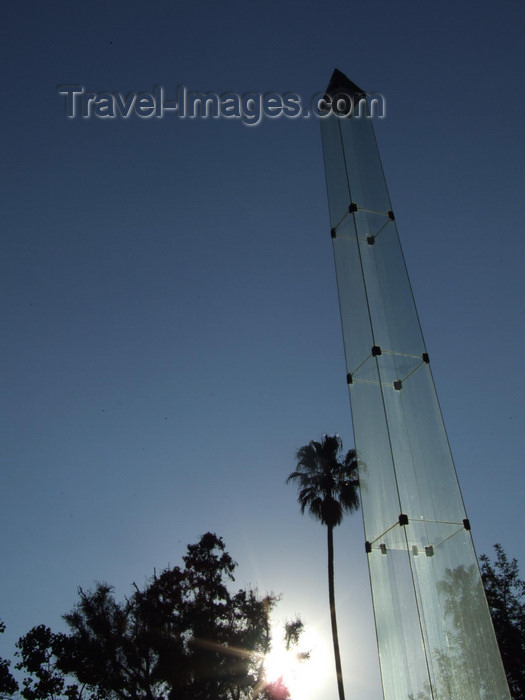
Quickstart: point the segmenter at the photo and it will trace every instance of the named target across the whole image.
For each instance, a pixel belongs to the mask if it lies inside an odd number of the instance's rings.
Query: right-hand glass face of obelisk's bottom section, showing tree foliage
[[[423,523],[406,529],[429,536],[428,554],[411,559],[435,697],[508,698],[470,534],[447,536],[447,526]]]

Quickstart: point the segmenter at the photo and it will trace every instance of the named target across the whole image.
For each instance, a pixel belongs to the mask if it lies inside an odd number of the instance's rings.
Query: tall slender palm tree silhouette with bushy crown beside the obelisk
[[[349,450],[343,455],[342,450],[339,435],[324,435],[321,442],[312,440],[297,450],[297,469],[286,480],[297,483],[301,513],[307,510],[328,531],[328,595],[339,700],[344,700],[345,694],[335,614],[333,533],[345,511],[359,508],[356,452]]]

